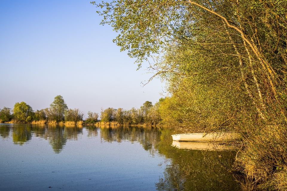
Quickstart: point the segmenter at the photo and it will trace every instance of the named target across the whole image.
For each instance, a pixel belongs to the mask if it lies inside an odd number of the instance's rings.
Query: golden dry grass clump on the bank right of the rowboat
[[[251,190],[272,190],[269,188],[271,185],[278,190],[287,190],[285,125],[261,125],[250,128],[247,134],[243,140],[244,149],[236,159],[236,167],[251,181]]]

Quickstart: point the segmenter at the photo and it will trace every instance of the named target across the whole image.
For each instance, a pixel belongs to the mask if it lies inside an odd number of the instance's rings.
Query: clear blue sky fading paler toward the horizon
[[[25,101],[39,110],[62,95],[69,108],[140,107],[162,96],[161,81],[112,42],[89,0],[1,1],[0,108]],[[86,114],[87,116],[87,114]]]

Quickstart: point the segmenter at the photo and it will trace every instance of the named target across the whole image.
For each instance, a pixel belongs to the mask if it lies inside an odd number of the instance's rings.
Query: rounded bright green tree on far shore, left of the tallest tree
[[[21,103],[17,102],[14,105],[13,113],[14,118],[22,122],[32,121],[34,115],[32,107],[26,104],[24,101],[22,101]]]

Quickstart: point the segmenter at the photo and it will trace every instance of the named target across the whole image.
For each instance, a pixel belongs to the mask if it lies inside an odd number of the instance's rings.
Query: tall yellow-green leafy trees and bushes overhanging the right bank
[[[175,122],[205,115],[202,124],[220,127],[238,119],[234,126],[250,129],[244,129],[249,139],[239,161],[254,184],[286,167],[287,1],[117,0],[97,6],[104,9],[98,11],[101,24],[118,32],[114,42],[121,51],[139,67],[154,59],[149,69],[168,82]]]

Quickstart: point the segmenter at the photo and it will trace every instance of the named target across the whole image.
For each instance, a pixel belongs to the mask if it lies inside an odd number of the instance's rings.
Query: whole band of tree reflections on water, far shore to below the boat
[[[5,139],[12,134],[13,143],[19,145],[40,137],[48,140],[54,153],[60,153],[67,141],[77,140],[83,130],[89,138],[99,136],[105,142],[137,142],[151,155],[164,157],[167,165],[155,183],[156,190],[240,190],[230,172],[235,151],[223,147],[222,150],[186,150],[195,147],[188,143],[178,144],[179,148],[186,147],[179,149],[172,146],[171,135],[176,132],[166,128],[17,124],[0,125],[0,136]]]

